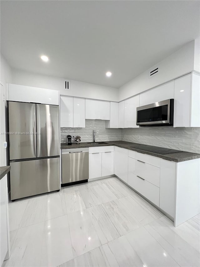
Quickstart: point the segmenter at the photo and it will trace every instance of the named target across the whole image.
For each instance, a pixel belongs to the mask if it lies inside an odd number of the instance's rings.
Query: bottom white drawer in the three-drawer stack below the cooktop
[[[160,188],[128,172],[128,185],[159,207]]]

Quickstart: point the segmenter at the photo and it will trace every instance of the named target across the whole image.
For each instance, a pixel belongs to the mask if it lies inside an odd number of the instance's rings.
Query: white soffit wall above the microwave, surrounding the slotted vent
[[[194,47],[195,41],[193,40],[156,64],[155,66],[159,66],[160,70],[159,74],[154,77],[149,79],[147,70],[121,86],[119,88],[119,101],[194,70]]]

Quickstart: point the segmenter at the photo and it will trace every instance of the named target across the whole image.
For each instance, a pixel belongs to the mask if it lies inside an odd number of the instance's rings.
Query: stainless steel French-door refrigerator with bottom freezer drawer
[[[60,189],[59,108],[8,102],[11,200]]]

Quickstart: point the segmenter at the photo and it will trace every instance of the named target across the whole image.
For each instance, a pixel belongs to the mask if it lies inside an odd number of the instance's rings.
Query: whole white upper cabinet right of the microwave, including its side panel
[[[200,76],[187,74],[175,80],[174,127],[200,126]]]

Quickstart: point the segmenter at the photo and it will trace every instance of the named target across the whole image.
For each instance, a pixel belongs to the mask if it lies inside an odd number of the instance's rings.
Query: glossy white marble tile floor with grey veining
[[[200,216],[173,222],[117,178],[9,203],[3,266],[199,266]]]

